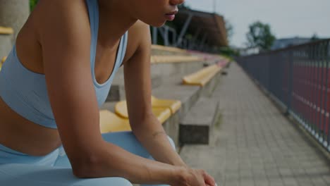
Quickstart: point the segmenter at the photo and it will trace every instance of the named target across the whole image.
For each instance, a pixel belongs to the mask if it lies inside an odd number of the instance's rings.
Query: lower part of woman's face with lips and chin
[[[130,0],[133,16],[148,25],[161,27],[166,20],[173,20],[178,5],[185,0]]]

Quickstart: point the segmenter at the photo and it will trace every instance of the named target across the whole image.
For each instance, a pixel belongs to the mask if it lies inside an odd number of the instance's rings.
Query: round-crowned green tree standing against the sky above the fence
[[[257,21],[249,26],[247,32],[247,46],[257,47],[260,51],[269,51],[276,37],[271,33],[269,24]]]

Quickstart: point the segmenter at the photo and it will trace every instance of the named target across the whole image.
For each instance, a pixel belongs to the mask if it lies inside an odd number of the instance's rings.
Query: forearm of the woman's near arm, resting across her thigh
[[[179,167],[142,158],[114,144],[104,142],[95,151],[90,163],[79,166],[78,177],[120,177],[133,183],[168,185],[182,180]]]

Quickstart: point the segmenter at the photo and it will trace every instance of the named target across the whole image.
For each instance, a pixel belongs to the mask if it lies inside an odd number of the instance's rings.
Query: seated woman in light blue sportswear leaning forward
[[[182,3],[39,1],[0,73],[0,185],[214,186],[183,163],[151,109],[148,25]],[[121,65],[133,132],[101,135],[99,106]]]

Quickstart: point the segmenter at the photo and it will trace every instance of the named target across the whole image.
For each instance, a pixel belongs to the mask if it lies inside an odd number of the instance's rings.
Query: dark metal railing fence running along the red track
[[[236,61],[330,151],[330,39]]]

